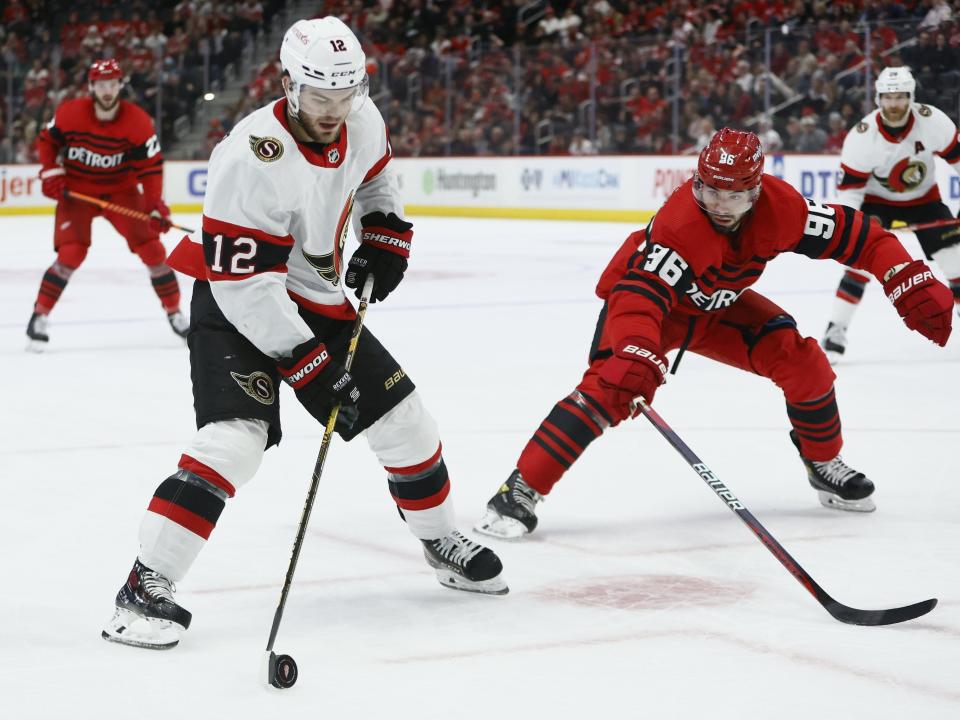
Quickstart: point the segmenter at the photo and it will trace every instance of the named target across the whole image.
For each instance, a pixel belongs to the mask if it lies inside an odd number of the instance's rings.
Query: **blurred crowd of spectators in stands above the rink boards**
[[[166,123],[168,103],[174,116],[191,112],[198,47],[212,42],[219,77],[244,31],[280,4],[184,0],[148,9],[139,0],[122,7],[101,0],[96,14],[62,17],[44,0],[0,2],[4,57],[18,53],[32,63],[19,126],[0,133],[8,150],[12,138],[13,161],[29,160],[36,125],[63,97],[85,89],[89,58],[118,55],[134,96],[153,111],[153,58],[162,56]],[[891,65],[913,69],[918,101],[960,120],[960,0],[334,0],[310,7],[318,17],[338,15],[363,42],[370,93],[398,156],[693,153],[724,125],[756,131],[768,152],[838,152],[846,131],[873,107],[871,79]],[[193,156],[207,157],[237,120],[278,97],[279,77],[276,58],[250,68],[241,99],[203,119],[209,131]]]

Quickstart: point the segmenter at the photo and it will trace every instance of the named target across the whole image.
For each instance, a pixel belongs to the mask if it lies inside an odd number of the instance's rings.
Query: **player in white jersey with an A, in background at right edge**
[[[960,303],[960,224],[950,224],[950,209],[940,200],[935,156],[960,173],[957,127],[942,111],[914,102],[916,81],[909,68],[884,68],[877,78],[878,110],[847,134],[840,156],[843,175],[837,202],[876,217],[885,228],[947,221],[916,231],[928,259],[947,277]],[[847,270],[837,288],[830,322],[821,345],[831,363],[847,346],[847,328],[869,278]]]

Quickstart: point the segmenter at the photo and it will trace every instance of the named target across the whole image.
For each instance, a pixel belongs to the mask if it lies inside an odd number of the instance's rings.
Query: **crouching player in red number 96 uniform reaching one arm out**
[[[826,506],[869,512],[873,483],[840,457],[834,373],[793,318],[750,289],[783,252],[833,259],[879,278],[907,327],[938,345],[950,335],[950,291],[895,236],[848,207],[807,200],[763,174],[756,135],[724,128],[646,229],[630,235],[597,286],[605,301],[576,389],[527,443],[476,529],[518,538],[536,504],[605,429],[633,415],[685,351],[769,378],[783,391],[790,438]]]

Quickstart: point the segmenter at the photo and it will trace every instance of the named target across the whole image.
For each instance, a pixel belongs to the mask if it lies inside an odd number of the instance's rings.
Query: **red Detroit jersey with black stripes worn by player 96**
[[[717,231],[693,198],[693,181],[678,187],[645,230],[631,234],[607,266],[597,294],[608,301],[614,344],[627,337],[660,341],[671,313],[696,316],[733,305],[783,252],[833,259],[882,280],[910,255],[896,236],[843,205],[803,197],[772,175],[733,235]]]

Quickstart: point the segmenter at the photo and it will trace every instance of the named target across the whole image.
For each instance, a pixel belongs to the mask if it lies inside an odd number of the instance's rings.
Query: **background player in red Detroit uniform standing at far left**
[[[53,247],[57,259],[47,268],[27,325],[28,349],[42,351],[50,340],[47,319],[70,276],[90,247],[90,225],[103,215],[150,271],[150,282],[167,312],[170,327],[186,337],[180,287],[166,264],[160,233],[170,229],[163,202],[163,155],[153,120],[120,99],[123,71],[116,60],[98,60],[87,75],[90,96],[62,103],[37,138],[43,168],[43,194],[57,201]],[[101,210],[68,197],[67,191],[94,195],[150,213],[149,223]]]

